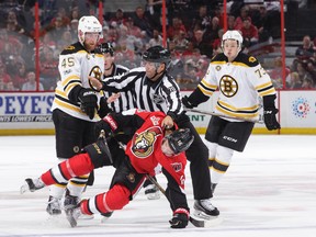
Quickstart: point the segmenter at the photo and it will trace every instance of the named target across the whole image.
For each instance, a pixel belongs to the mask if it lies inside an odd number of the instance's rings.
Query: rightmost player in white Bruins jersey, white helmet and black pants
[[[205,139],[210,142],[212,191],[227,171],[234,150],[241,153],[247,144],[255,126],[247,120],[258,119],[259,97],[263,100],[267,128],[280,128],[275,117],[278,109],[274,105],[276,97],[272,81],[257,58],[241,52],[241,45],[240,33],[227,31],[222,38],[223,53],[212,58],[206,75],[190,97],[182,98],[184,106],[192,109],[207,101],[219,89],[215,112],[226,117],[212,116],[205,134]]]

